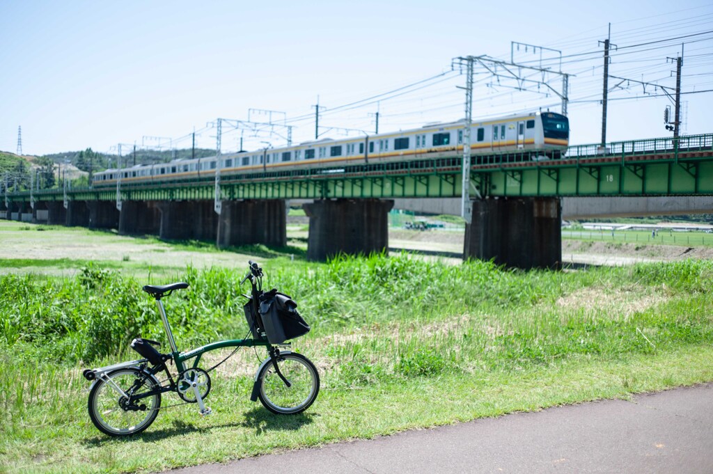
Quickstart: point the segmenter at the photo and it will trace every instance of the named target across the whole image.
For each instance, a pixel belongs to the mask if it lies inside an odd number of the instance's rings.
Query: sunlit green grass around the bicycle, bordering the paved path
[[[101,247],[118,236],[92,237]],[[185,251],[165,245],[169,258]],[[406,254],[316,264],[267,252],[266,286],[291,294],[312,325],[294,350],[319,369],[314,405],[277,416],[251,403],[265,354],[243,349],[211,373],[214,415],[173,406],[180,399],[167,393],[148,431],[125,439],[91,424],[81,370],[133,359],[135,336],[165,343],[140,291],[145,275],[118,259],[61,277],[0,276],[0,471],[152,472],[713,380],[713,262],[519,272]],[[190,284],[165,299],[180,347],[245,335],[244,269],[149,275]]]

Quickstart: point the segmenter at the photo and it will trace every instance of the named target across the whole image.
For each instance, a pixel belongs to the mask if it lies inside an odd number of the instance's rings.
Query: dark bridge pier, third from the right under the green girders
[[[217,247],[265,244],[287,245],[287,208],[284,200],[223,201],[217,226]]]

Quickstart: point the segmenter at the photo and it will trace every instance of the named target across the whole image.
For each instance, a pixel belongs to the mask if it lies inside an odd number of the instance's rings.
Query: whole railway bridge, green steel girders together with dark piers
[[[558,267],[561,197],[713,195],[713,134],[576,145],[563,158],[473,156],[464,258]],[[460,197],[460,158],[224,175],[73,190],[6,192],[0,217],[114,228],[219,247],[287,243],[286,200],[309,216],[307,257],[388,247],[394,199]]]

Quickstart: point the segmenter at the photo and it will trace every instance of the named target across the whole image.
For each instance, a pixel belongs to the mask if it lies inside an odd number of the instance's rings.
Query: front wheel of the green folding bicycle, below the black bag
[[[289,387],[277,374],[275,361],[268,362],[258,376],[260,403],[272,413],[281,415],[307,410],[319,393],[317,368],[302,354],[279,356],[277,366],[289,381]]]

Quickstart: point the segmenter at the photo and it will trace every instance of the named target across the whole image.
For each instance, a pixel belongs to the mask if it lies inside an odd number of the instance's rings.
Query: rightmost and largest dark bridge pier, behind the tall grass
[[[463,258],[493,259],[520,269],[560,268],[562,205],[558,197],[501,197],[473,201]]]

